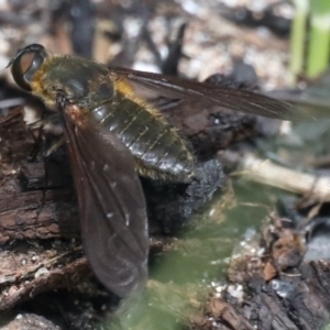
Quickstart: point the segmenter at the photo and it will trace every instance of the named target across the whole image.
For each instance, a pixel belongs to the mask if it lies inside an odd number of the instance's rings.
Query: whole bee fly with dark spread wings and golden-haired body
[[[57,108],[63,119],[85,252],[100,282],[122,298],[141,293],[147,277],[147,218],[139,175],[188,183],[194,174],[184,140],[141,95],[298,117],[288,103],[252,91],[108,68],[51,55],[38,44],[20,50],[10,66],[18,86]]]

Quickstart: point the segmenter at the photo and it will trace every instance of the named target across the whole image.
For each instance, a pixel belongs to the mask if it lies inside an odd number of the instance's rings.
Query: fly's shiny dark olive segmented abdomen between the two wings
[[[187,182],[194,157],[177,132],[154,112],[129,98],[114,98],[94,109],[92,116],[130,148],[142,176]]]

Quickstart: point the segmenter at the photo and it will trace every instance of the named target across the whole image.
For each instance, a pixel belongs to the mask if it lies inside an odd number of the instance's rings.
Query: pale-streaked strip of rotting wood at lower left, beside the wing
[[[81,246],[68,249],[63,244],[62,249],[45,250],[22,245],[14,252],[3,251],[0,255],[0,310],[54,288],[78,290],[79,286],[86,286],[90,270],[86,257],[81,256]]]

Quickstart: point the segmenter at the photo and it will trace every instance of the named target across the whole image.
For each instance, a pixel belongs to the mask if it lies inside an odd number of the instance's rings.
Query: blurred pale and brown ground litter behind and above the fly
[[[148,72],[164,70],[169,53],[179,52],[179,75],[198,80],[229,73],[241,58],[267,88],[289,81],[295,9],[287,1],[36,0],[2,1],[0,10],[3,67],[15,50],[42,43],[54,53]]]

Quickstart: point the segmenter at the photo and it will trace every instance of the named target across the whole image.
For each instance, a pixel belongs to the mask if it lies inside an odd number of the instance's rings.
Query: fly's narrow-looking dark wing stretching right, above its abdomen
[[[158,74],[111,67],[114,79],[128,79],[134,89],[172,99],[196,99],[229,110],[270,118],[308,121],[314,118],[299,108],[262,94],[244,89],[213,86]]]

